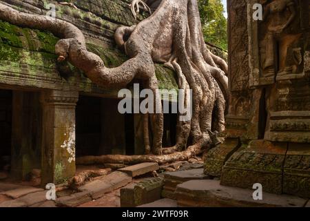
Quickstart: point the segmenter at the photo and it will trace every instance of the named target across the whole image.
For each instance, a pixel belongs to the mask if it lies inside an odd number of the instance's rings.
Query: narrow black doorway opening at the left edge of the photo
[[[10,171],[12,146],[12,90],[0,90],[0,171]]]

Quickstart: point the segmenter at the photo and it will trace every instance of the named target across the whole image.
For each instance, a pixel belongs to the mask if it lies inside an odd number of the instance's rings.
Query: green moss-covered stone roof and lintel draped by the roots
[[[87,49],[99,55],[107,67],[121,65],[128,58],[116,48],[114,31],[120,25],[131,26],[129,3],[121,0],[71,1],[79,10],[56,1],[7,1],[23,11],[44,15],[48,3],[56,4],[56,16],[74,23],[86,37]],[[91,3],[90,3],[91,2]],[[30,4],[31,3],[31,4]],[[141,17],[142,18],[142,17]],[[56,64],[54,45],[59,39],[52,33],[21,28],[0,21],[0,83],[50,89],[73,89],[106,97],[115,97],[116,90],[99,88],[70,64]],[[160,88],[177,89],[176,75],[156,64]]]

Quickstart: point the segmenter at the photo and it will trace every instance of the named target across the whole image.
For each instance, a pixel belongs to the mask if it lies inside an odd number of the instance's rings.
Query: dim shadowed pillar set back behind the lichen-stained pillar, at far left
[[[17,180],[41,167],[41,114],[39,93],[13,91],[11,174]]]

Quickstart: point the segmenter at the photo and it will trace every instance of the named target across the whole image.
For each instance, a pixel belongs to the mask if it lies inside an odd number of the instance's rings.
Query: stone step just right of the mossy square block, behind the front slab
[[[203,169],[191,169],[185,171],[175,171],[164,174],[165,181],[163,186],[162,197],[175,200],[174,191],[178,184],[189,180],[208,179],[209,176],[203,173]]]

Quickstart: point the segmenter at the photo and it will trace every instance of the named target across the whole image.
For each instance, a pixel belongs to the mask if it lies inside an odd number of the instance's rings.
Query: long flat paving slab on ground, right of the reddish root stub
[[[95,200],[101,198],[103,194],[121,188],[130,182],[132,182],[132,177],[126,173],[115,171],[100,180],[94,180],[93,182],[89,182],[79,187],[79,191],[90,193],[92,199]]]

